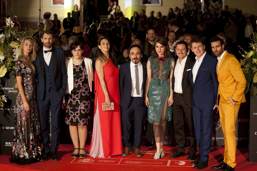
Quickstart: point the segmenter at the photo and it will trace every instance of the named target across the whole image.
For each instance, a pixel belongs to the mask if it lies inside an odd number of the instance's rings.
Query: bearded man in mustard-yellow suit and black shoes
[[[240,103],[246,101],[244,97],[246,79],[235,56],[224,50],[223,40],[215,36],[211,38],[210,43],[212,52],[218,57],[219,112],[225,141],[224,160],[212,169],[231,171],[235,170],[236,166],[235,123]]]

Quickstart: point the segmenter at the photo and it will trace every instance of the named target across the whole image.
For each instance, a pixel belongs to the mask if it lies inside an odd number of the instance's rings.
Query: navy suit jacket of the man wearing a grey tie
[[[143,94],[140,105],[144,104],[144,93],[145,93],[145,82],[146,82],[146,62],[142,63],[143,66]],[[120,93],[121,93],[121,107],[124,109],[128,109],[128,105],[131,97],[132,83],[131,83],[131,72],[130,72],[130,61],[120,65],[120,76],[119,76],[119,84],[120,84]]]

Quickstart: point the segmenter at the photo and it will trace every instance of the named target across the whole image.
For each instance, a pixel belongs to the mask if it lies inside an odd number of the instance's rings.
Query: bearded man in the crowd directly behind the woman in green
[[[142,44],[143,52],[147,56],[151,56],[152,53],[152,45],[156,37],[156,29],[154,27],[146,28],[146,38],[148,41]]]

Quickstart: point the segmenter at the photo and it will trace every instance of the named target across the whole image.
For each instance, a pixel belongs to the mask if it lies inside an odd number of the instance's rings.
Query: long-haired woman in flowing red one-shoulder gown
[[[121,110],[119,69],[113,45],[108,38],[101,38],[95,62],[95,115],[93,135],[89,148],[92,157],[111,157],[123,152],[121,142]],[[102,103],[114,110],[103,111]]]

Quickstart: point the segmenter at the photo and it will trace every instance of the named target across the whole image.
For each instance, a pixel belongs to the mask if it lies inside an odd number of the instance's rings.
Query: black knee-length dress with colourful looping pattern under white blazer
[[[90,87],[84,60],[80,65],[73,64],[73,90],[69,94],[65,123],[85,125],[90,109]]]

